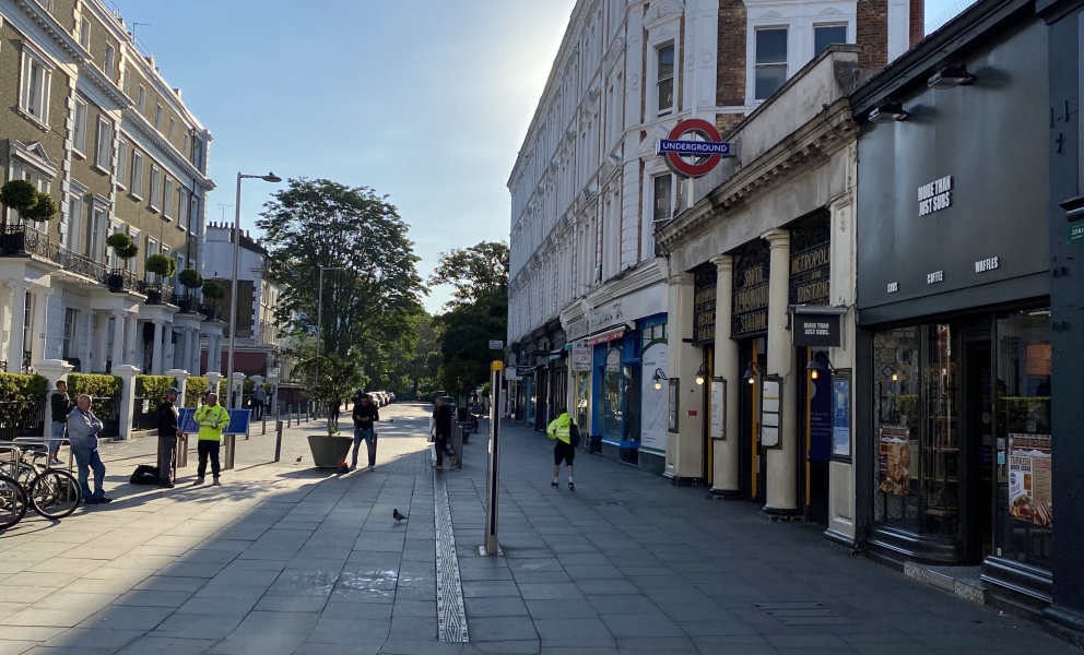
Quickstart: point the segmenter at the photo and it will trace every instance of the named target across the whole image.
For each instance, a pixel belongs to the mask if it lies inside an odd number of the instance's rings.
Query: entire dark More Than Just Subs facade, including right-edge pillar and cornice
[[[851,97],[861,547],[1076,641],[1081,4],[980,0]]]

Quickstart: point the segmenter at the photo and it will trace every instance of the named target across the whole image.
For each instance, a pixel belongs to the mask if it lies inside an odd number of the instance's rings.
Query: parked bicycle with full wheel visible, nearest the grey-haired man
[[[79,509],[83,500],[79,480],[67,471],[49,466],[49,440],[22,437],[12,445],[0,445],[0,450],[13,455],[0,464],[0,474],[21,487],[35,513],[59,521]],[[31,455],[30,462],[24,460],[26,454]],[[45,464],[39,464],[38,460],[44,460]]]

